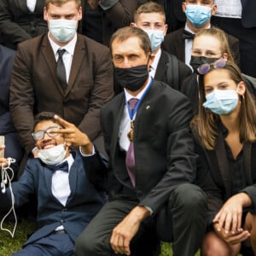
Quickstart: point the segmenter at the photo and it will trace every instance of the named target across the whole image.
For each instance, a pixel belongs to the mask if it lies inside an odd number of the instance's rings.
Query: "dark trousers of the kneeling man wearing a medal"
[[[108,202],[75,242],[75,255],[113,255],[109,242],[112,230],[136,206],[135,201]],[[174,256],[194,255],[201,246],[206,226],[207,201],[204,192],[193,184],[182,184],[172,192],[159,213],[143,221],[131,241],[131,255],[138,255],[137,250],[146,252],[155,241],[172,242]],[[153,237],[154,241],[144,240],[144,237]]]

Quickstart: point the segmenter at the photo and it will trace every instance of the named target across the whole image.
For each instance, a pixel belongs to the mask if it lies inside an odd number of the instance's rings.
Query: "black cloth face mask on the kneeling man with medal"
[[[115,80],[127,90],[139,90],[148,79],[148,65],[129,68],[114,68]]]

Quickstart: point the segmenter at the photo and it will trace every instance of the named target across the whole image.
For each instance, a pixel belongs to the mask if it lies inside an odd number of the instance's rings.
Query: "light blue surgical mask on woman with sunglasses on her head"
[[[217,114],[231,113],[238,102],[236,90],[213,90],[206,98],[207,101],[203,103],[203,107]]]

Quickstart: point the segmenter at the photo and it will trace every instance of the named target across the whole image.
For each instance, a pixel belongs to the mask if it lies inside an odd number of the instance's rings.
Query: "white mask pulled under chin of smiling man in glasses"
[[[38,157],[46,165],[59,165],[65,159],[67,149],[65,143],[62,143],[53,148],[38,149]]]

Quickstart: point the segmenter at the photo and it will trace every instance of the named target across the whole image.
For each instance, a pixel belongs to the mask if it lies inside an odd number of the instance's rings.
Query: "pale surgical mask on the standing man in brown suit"
[[[77,20],[49,20],[49,32],[56,41],[66,43],[76,33]]]

